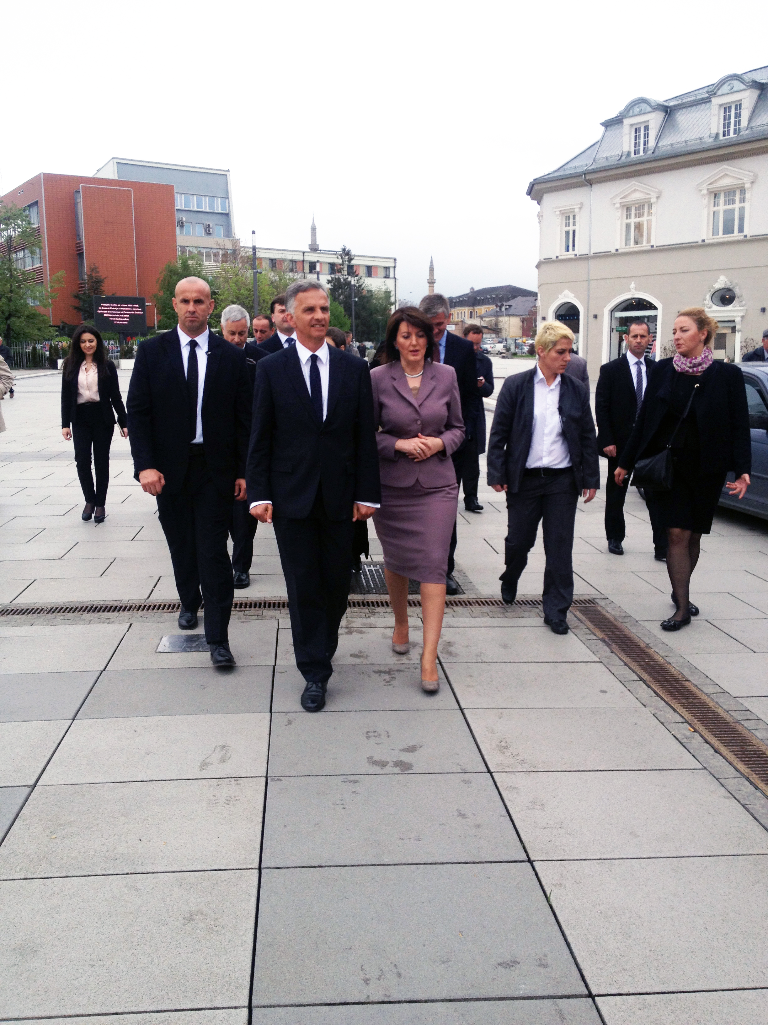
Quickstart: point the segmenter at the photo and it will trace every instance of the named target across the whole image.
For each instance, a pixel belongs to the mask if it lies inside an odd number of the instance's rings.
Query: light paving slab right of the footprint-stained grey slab
[[[693,769],[693,757],[645,708],[469,708],[492,772]]]

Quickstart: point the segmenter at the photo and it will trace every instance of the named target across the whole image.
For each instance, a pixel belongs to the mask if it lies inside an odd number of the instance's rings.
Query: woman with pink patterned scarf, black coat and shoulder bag
[[[671,448],[670,490],[653,493],[659,524],[667,528],[667,570],[676,612],[664,630],[686,626],[698,609],[690,603],[690,578],[701,534],[712,519],[729,470],[731,494],[743,498],[750,484],[752,444],[744,379],[738,367],[715,360],[718,325],[700,306],[683,310],[675,321],[677,353],[650,374],[643,404],[618,458],[620,486],[640,459]]]

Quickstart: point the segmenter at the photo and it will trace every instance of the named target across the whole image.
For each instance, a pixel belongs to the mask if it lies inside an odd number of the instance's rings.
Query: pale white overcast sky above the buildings
[[[768,63],[764,0],[9,5],[0,194],[110,157],[226,167],[236,230],[397,257],[398,298],[537,286],[530,178],[629,99]],[[9,100],[9,101],[8,101]]]

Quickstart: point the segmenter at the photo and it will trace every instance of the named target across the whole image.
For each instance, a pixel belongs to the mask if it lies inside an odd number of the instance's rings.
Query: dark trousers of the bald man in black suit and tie
[[[195,448],[181,490],[173,495],[163,490],[158,495],[158,515],[181,604],[197,612],[205,602],[206,641],[226,644],[234,597],[226,550],[232,499],[214,486],[202,446]]]

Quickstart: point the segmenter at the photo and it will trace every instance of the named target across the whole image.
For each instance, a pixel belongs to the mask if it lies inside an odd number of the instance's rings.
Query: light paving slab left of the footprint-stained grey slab
[[[40,782],[263,776],[268,735],[264,713],[76,720]]]

